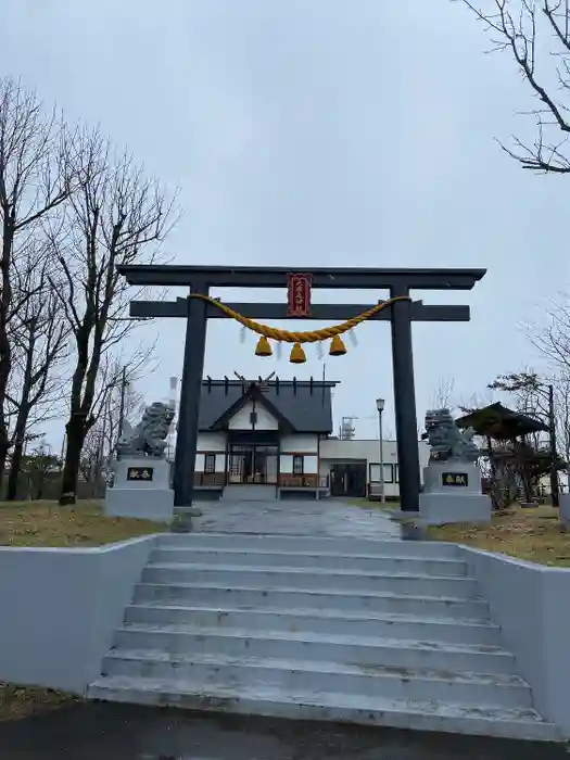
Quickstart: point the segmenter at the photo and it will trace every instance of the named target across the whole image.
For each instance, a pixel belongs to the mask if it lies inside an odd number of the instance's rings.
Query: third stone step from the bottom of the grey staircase
[[[477,673],[516,673],[515,658],[490,644],[455,644],[331,633],[208,629],[191,625],[123,625],[114,649],[330,661],[365,667],[428,668]]]

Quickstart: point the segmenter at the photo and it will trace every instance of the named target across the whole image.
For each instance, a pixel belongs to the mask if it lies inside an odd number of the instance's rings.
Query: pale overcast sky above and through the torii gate
[[[180,188],[183,216],[164,251],[177,263],[486,267],[472,292],[414,293],[471,306],[470,324],[414,326],[419,422],[440,377],[467,400],[498,372],[537,366],[520,324],[568,281],[570,180],[533,176],[501,152],[494,137],[524,134],[515,113],[531,102],[510,59],[483,54],[459,3],[3,0],[2,20],[3,74],[99,123]],[[231,293],[275,296],[284,292]],[[181,375],[185,325],[141,329],[160,337],[160,369],[141,390],[163,400]],[[255,358],[255,339],[239,335],[211,325],[206,373],[322,373],[314,347],[293,367],[287,352]],[[373,438],[377,396],[394,430],[389,326],[357,337],[326,372],[341,381],[335,420],[358,416],[358,435]]]

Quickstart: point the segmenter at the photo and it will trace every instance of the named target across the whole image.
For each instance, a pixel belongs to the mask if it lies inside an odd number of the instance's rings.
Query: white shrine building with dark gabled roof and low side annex
[[[366,496],[380,481],[379,441],[332,438],[334,381],[202,382],[195,494],[217,498]],[[420,465],[429,447],[418,443]],[[396,444],[383,442],[388,498],[398,496]]]

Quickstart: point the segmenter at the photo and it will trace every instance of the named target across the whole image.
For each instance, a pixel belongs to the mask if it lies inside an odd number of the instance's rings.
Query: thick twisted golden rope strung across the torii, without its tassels
[[[188,297],[206,301],[208,304],[217,306],[217,308],[224,312],[224,314],[227,314],[228,317],[231,317],[236,321],[240,322],[240,325],[243,325],[243,327],[246,327],[252,332],[256,332],[258,335],[265,335],[265,338],[271,338],[275,341],[282,341],[284,343],[317,343],[318,341],[334,338],[334,335],[342,335],[343,332],[347,332],[349,330],[352,330],[353,327],[356,327],[356,325],[365,322],[367,319],[373,317],[375,314],[378,314],[378,312],[381,312],[383,308],[391,306],[396,301],[411,301],[409,295],[396,295],[393,299],[382,301],[382,303],[368,308],[366,312],[362,312],[360,314],[351,317],[344,322],[340,322],[340,325],[331,325],[331,327],[324,327],[320,330],[292,332],[290,330],[279,330],[276,327],[269,327],[268,325],[262,325],[253,319],[249,319],[210,295],[204,295],[203,293],[191,293]]]

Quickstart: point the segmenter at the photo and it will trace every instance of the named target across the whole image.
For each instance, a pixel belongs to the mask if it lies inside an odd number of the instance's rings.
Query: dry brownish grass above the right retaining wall
[[[512,507],[492,517],[491,525],[453,524],[430,528],[435,541],[453,541],[531,562],[570,567],[570,533],[549,506]]]

